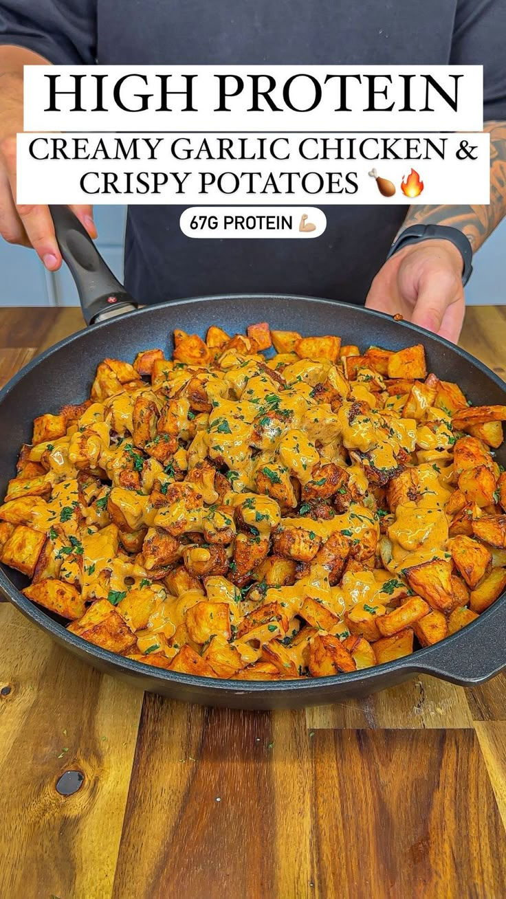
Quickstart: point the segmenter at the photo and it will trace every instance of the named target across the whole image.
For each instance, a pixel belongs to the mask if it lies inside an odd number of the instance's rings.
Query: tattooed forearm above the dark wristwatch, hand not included
[[[489,121],[490,203],[487,206],[410,206],[404,228],[411,225],[449,225],[463,231],[475,252],[506,215],[506,122]]]

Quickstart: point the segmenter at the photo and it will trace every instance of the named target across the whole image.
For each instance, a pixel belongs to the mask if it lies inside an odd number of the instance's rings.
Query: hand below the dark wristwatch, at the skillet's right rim
[[[377,272],[368,309],[422,325],[457,343],[465,313],[462,256],[449,240],[405,246]]]

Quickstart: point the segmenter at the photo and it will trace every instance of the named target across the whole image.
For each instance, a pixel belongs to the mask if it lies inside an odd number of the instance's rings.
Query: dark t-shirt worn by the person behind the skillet
[[[506,120],[506,0],[0,0],[0,43],[59,64],[475,63],[484,120]],[[222,241],[184,236],[182,207],[132,206],[127,288],[144,304],[257,291],[362,304],[406,207],[324,211],[315,240]]]

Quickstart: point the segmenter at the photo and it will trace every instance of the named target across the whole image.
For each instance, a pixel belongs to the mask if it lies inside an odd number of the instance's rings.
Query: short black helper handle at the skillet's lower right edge
[[[419,653],[406,656],[407,667],[463,687],[490,681],[506,668],[505,634],[506,596],[503,596],[472,624],[431,646],[422,663],[417,660]]]

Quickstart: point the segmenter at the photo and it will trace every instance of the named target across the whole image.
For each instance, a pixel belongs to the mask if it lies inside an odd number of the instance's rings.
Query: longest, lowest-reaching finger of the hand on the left
[[[6,174],[11,185],[13,200],[15,201],[17,191],[15,138],[4,140],[2,156],[4,156]],[[31,246],[40,257],[40,260],[49,271],[59,269],[62,259],[48,207],[15,202],[15,208],[19,218],[21,218],[22,227],[26,231]]]

